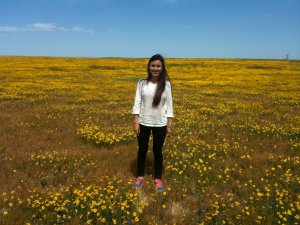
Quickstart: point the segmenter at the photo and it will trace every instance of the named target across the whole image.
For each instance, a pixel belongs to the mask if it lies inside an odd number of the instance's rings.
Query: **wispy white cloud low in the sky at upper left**
[[[88,30],[82,27],[74,26],[72,28],[66,28],[58,26],[56,23],[33,23],[24,27],[0,27],[0,32],[25,32],[25,31],[68,31],[68,32],[84,32],[92,34],[92,30]]]

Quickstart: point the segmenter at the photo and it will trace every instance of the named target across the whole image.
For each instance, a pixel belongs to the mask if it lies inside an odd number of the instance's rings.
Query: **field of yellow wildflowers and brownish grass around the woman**
[[[133,187],[147,59],[0,57],[0,224],[299,224],[300,61],[166,59],[165,190]]]

